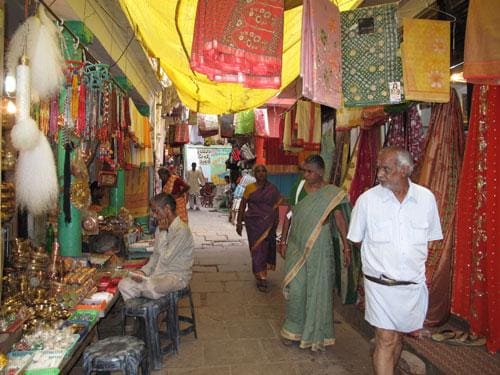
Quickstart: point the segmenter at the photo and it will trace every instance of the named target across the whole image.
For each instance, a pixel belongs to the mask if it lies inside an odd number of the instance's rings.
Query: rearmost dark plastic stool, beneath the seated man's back
[[[187,286],[184,289],[177,290],[175,292],[171,292],[165,296],[168,301],[167,308],[167,330],[168,330],[168,338],[170,339],[170,344],[167,345],[162,353],[174,353],[179,352],[179,343],[180,336],[187,335],[191,332],[194,333],[194,337],[198,338],[198,333],[196,332],[196,318],[194,316],[194,304],[193,304],[193,296],[191,295],[191,288]],[[179,300],[189,297],[189,305],[191,308],[191,316],[183,316],[178,313],[178,303]],[[187,322],[189,326],[180,329],[179,322]]]

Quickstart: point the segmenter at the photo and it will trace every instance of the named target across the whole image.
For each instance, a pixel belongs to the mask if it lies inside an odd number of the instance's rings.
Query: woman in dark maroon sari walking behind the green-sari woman
[[[256,165],[254,177],[257,181],[247,185],[241,200],[236,232],[241,236],[244,218],[252,255],[252,272],[257,288],[267,292],[267,270],[276,268],[276,227],[282,199],[276,186],[267,181],[266,167]]]

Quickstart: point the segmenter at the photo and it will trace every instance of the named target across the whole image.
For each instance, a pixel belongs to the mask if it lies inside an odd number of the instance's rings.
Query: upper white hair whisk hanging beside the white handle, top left
[[[35,45],[28,51],[31,61],[31,87],[44,99],[59,92],[64,83],[65,61],[61,52],[59,30],[47,17],[43,7],[38,7],[41,26]]]

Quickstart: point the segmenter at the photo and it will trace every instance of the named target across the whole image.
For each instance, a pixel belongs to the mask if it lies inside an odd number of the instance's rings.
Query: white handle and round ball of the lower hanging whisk
[[[34,148],[40,139],[35,120],[30,117],[30,68],[25,56],[16,68],[16,124],[10,132],[12,145],[19,151]]]

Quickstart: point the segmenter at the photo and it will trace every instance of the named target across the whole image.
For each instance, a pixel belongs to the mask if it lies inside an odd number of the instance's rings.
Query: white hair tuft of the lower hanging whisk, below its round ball
[[[41,215],[57,206],[59,187],[54,154],[43,134],[35,148],[19,153],[15,180],[20,208]]]

